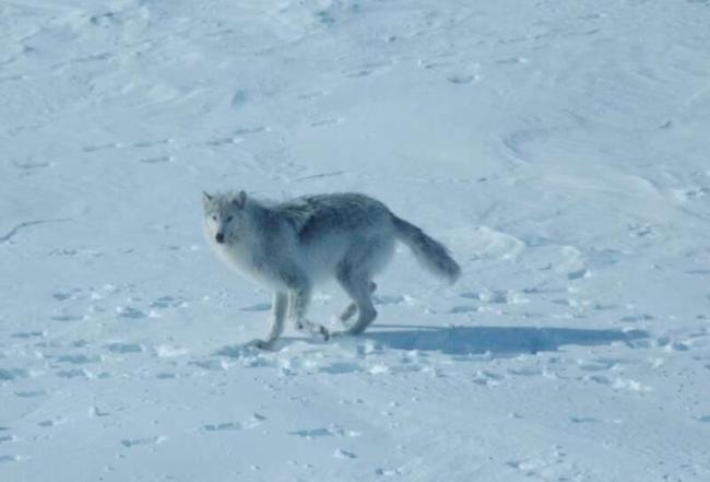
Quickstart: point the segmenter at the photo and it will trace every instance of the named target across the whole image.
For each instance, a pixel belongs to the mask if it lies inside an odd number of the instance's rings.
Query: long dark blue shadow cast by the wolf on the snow
[[[648,338],[642,330],[620,331],[530,327],[427,327],[376,325],[362,337],[397,350],[437,351],[450,355],[490,353],[514,356],[557,351],[563,345],[605,345]]]

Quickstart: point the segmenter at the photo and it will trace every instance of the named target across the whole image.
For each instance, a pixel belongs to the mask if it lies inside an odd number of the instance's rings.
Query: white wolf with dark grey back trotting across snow
[[[304,196],[268,203],[238,193],[203,193],[208,244],[227,266],[274,290],[271,348],[288,310],[298,329],[329,338],[306,319],[313,283],[335,278],[353,303],[341,314],[347,333],[362,333],[375,319],[372,277],[384,268],[394,240],[407,245],[434,274],[453,283],[461,273],[447,248],[395,216],[381,202],[358,193]]]

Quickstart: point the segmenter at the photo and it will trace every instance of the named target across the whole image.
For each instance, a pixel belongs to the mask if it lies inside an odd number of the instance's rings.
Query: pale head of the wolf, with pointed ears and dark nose
[[[202,192],[204,233],[208,240],[217,244],[236,243],[246,230],[247,193]]]

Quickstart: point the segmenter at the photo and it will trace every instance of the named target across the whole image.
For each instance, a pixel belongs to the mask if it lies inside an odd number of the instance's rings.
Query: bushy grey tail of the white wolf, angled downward
[[[436,239],[412,223],[392,214],[397,238],[407,245],[416,259],[431,273],[455,282],[461,274],[461,267],[449,255],[449,250]]]

